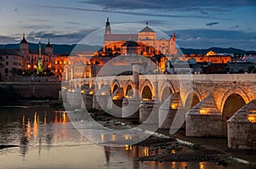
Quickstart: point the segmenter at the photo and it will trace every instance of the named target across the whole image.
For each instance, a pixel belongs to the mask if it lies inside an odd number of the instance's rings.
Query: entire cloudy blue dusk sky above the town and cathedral
[[[148,24],[177,33],[184,48],[256,50],[255,0],[1,0],[0,43],[77,43],[111,24]]]

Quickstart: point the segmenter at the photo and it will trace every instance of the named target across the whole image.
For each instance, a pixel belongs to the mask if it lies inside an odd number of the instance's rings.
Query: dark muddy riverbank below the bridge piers
[[[102,111],[94,110],[90,115],[104,127],[112,129],[137,127],[138,124],[137,120],[115,118]],[[170,135],[169,130],[159,129],[153,136],[136,144],[148,147],[146,155],[138,157],[137,161],[208,161],[222,166],[240,162],[246,168],[256,168],[255,150],[228,149],[225,140],[186,137],[184,130]]]

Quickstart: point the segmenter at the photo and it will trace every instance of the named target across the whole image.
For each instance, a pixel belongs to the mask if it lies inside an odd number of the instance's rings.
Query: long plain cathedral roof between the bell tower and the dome
[[[105,34],[105,41],[137,41],[137,34]]]

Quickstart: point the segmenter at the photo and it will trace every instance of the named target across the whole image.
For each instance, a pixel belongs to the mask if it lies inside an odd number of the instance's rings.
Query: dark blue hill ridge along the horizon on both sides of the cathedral
[[[45,48],[46,44],[42,43],[42,48]],[[90,46],[90,45],[67,45],[67,44],[52,44],[54,48],[54,54],[70,54],[73,48],[79,51],[98,51],[101,46]],[[3,48],[12,48],[12,49],[19,49],[19,44],[0,44],[0,49]],[[38,50],[37,43],[29,43],[30,50]],[[255,51],[245,51],[237,48],[180,48],[183,54],[207,54],[210,50],[214,51],[217,54],[227,53],[227,54],[246,54],[246,53],[256,53]]]

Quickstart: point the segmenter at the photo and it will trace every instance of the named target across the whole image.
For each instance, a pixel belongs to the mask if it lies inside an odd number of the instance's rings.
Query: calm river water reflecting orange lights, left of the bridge
[[[147,147],[108,147],[84,138],[64,111],[49,101],[22,101],[0,106],[0,168],[212,168],[210,162],[137,161]],[[244,166],[236,166],[244,168]]]

